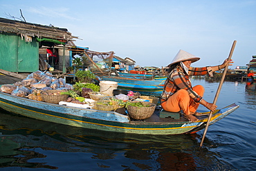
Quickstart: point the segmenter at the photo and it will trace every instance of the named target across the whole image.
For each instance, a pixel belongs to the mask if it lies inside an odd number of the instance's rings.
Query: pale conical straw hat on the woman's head
[[[191,60],[191,62],[198,61],[200,58],[194,56],[194,54],[190,54],[189,52],[185,52],[184,50],[179,50],[179,52],[176,54],[174,59],[172,60],[172,63],[168,65],[168,67],[172,66],[174,63],[178,63],[181,61],[187,61]]]

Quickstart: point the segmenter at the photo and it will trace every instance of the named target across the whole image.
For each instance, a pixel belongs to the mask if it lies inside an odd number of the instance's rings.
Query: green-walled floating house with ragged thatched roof
[[[68,48],[75,46],[66,28],[0,18],[0,69],[10,72],[46,70],[48,64],[66,72]]]

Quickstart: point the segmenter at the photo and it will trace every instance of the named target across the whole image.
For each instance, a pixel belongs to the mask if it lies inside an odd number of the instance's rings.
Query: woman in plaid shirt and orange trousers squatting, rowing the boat
[[[180,50],[176,57],[170,63],[169,72],[163,94],[161,95],[161,106],[163,110],[169,112],[183,111],[184,117],[189,121],[198,121],[195,116],[200,116],[196,112],[199,104],[204,105],[208,110],[214,111],[217,105],[205,101],[203,97],[204,88],[201,85],[192,87],[189,76],[209,74],[221,70],[227,65],[232,66],[232,60],[227,59],[219,66],[207,66],[203,68],[192,68],[191,63],[198,61],[200,58]]]

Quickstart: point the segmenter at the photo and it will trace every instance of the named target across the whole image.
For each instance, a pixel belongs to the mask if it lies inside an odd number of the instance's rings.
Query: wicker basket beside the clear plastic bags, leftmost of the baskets
[[[65,92],[62,90],[46,90],[41,92],[42,100],[47,103],[58,104],[60,101],[64,101],[68,98],[68,94],[60,94],[60,92]]]

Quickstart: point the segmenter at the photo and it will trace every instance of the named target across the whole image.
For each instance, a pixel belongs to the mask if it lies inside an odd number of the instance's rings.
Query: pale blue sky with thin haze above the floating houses
[[[214,66],[228,57],[236,66],[256,54],[256,1],[77,0],[3,1],[0,17],[67,28],[82,40],[77,46],[114,51],[140,66],[167,66],[180,49],[201,60],[192,66]]]

